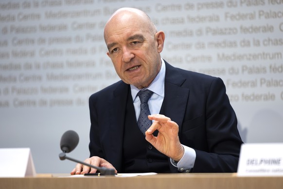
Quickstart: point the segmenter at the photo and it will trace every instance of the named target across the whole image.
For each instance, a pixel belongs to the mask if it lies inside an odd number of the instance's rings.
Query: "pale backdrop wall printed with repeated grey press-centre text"
[[[103,28],[124,6],[165,32],[165,60],[224,80],[245,142],[283,142],[282,0],[1,0],[0,148],[29,147],[37,172],[66,173],[59,142],[74,130],[69,156],[89,156],[88,97],[119,80]]]

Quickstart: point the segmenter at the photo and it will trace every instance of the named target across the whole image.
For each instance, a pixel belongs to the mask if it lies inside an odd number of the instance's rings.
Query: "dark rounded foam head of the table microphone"
[[[79,143],[79,135],[72,131],[66,131],[60,141],[61,150],[65,153],[69,153],[76,148]]]

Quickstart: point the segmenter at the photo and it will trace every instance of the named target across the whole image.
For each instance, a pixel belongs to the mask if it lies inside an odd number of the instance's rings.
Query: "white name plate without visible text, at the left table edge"
[[[0,149],[0,177],[35,176],[35,166],[29,148]]]

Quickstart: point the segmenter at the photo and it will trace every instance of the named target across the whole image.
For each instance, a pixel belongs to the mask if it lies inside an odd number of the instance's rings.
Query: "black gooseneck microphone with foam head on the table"
[[[79,135],[74,132],[74,131],[66,131],[62,137],[61,137],[61,141],[60,141],[60,148],[63,151],[62,153],[59,154],[59,158],[61,160],[65,160],[65,159],[69,159],[71,161],[74,161],[76,163],[80,163],[83,164],[85,166],[94,168],[98,171],[100,171],[100,173],[104,174],[104,175],[115,175],[115,170],[114,169],[107,169],[105,167],[96,167],[90,164],[87,164],[85,162],[73,159],[71,157],[68,157],[66,155],[66,153],[71,152],[72,150],[74,150],[76,148],[76,146],[79,143]]]

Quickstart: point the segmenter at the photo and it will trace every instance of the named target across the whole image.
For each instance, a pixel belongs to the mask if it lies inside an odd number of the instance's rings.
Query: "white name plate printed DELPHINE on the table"
[[[283,143],[243,144],[238,176],[283,176]]]

